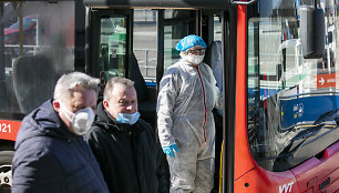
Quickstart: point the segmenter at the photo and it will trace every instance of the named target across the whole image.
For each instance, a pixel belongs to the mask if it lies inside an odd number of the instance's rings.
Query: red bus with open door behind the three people
[[[209,45],[224,94],[213,192],[338,192],[337,11],[338,0],[1,1],[0,192],[21,120],[61,74],[134,80],[155,126],[157,83],[187,34]]]

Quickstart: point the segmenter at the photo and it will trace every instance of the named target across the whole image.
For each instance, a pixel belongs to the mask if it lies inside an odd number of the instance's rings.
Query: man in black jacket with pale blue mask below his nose
[[[165,193],[168,185],[152,126],[138,119],[134,82],[111,79],[86,133],[111,193]]]

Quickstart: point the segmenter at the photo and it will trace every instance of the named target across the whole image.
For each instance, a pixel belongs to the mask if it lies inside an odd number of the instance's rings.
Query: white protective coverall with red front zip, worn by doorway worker
[[[176,143],[167,156],[171,193],[210,193],[214,181],[215,124],[212,110],[222,108],[212,69],[183,59],[171,65],[160,83],[157,129],[162,146]]]

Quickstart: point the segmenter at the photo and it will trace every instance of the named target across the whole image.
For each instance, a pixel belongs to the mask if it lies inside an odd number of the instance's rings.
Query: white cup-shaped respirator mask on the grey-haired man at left
[[[76,112],[71,112],[60,103],[60,108],[65,111],[64,115],[71,122],[71,126],[75,134],[83,135],[91,128],[94,122],[94,112],[92,108],[81,109]],[[72,119],[68,115],[71,114]]]

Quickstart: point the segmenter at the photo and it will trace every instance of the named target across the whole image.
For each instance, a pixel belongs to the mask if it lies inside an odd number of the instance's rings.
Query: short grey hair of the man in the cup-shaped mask
[[[100,80],[82,72],[71,72],[63,74],[54,88],[54,100],[68,100],[72,96],[76,87],[99,92]]]

